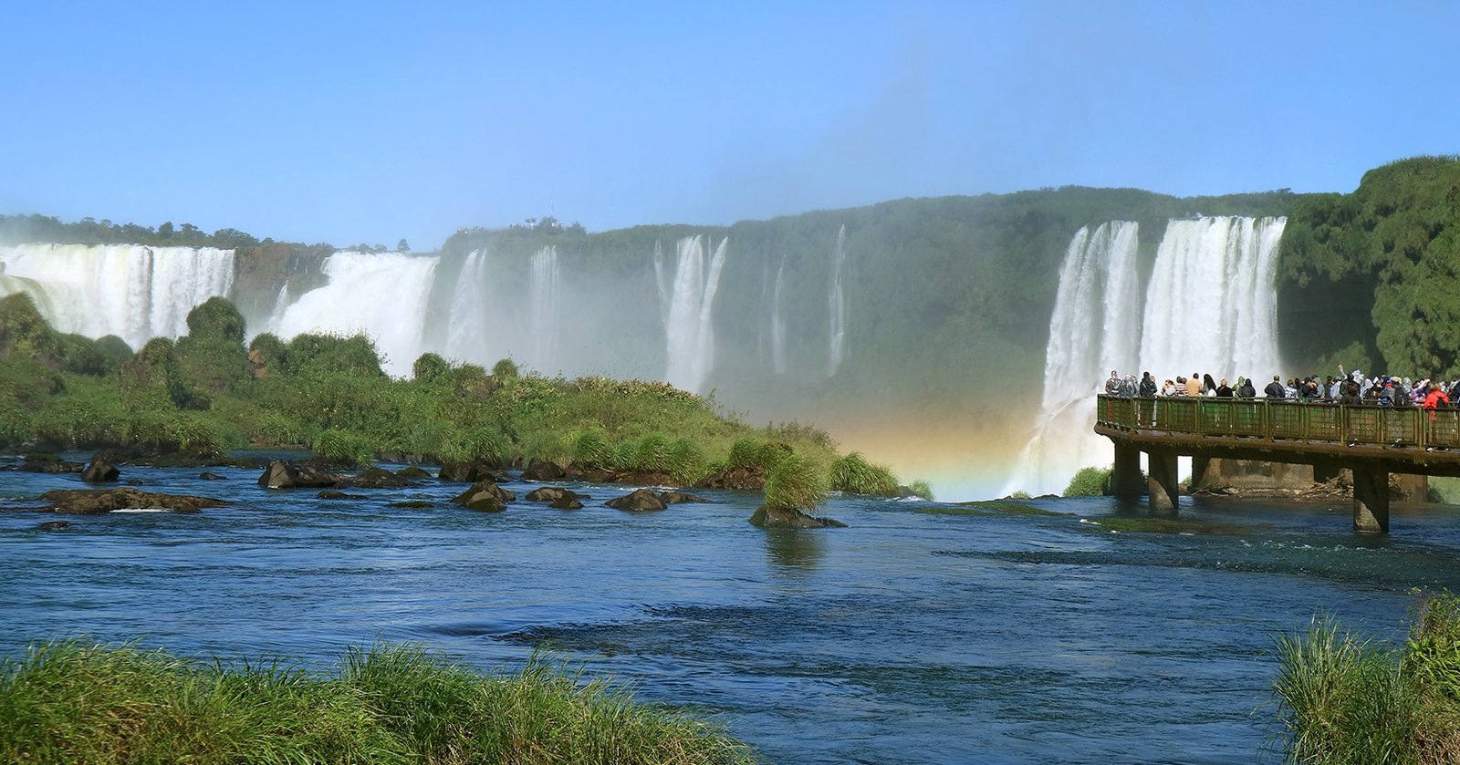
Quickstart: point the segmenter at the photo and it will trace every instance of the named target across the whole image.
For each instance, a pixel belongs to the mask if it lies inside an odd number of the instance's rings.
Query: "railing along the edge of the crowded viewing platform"
[[[1460,409],[1099,394],[1095,422],[1168,435],[1460,450]]]

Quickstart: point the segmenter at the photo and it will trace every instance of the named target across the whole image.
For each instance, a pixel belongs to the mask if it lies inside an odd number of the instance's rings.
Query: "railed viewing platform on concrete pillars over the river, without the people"
[[[1098,396],[1095,432],[1115,445],[1115,495],[1175,512],[1177,457],[1311,464],[1353,473],[1353,528],[1388,531],[1388,476],[1460,476],[1460,410],[1267,399]]]

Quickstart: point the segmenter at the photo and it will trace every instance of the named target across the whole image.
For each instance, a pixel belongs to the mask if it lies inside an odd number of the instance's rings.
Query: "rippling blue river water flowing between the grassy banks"
[[[1460,588],[1460,512],[1396,505],[1349,531],[1348,501],[1183,498],[1235,533],[1111,533],[1105,498],[1053,515],[832,498],[848,528],[766,531],[759,495],[631,514],[456,508],[461,485],[321,501],[258,470],[124,469],[146,491],[237,502],[200,514],[0,512],[0,654],[31,641],[333,664],[416,641],[483,670],[534,650],[691,707],[766,761],[1276,761],[1273,641],[1315,613],[1402,639],[1413,588]],[[0,496],[82,488],[0,473]],[[431,508],[391,507],[423,499]],[[42,521],[70,527],[42,531]]]

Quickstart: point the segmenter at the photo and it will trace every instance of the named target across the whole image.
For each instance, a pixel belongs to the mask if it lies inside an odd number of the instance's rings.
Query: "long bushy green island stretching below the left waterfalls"
[[[540,461],[585,480],[755,491],[794,454],[831,491],[912,491],[860,454],[838,455],[825,431],[753,428],[664,382],[548,378],[511,359],[488,371],[437,353],[396,380],[365,336],[266,333],[245,345],[244,318],[223,298],[194,308],[187,326],[133,353],[117,337],[53,330],[28,293],[0,298],[0,445],[197,461],[244,447],[359,466]],[[926,483],[914,489],[929,495]]]

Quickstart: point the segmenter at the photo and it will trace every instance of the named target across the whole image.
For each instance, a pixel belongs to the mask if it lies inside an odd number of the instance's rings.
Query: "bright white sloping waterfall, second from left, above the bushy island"
[[[365,333],[384,356],[381,368],[406,377],[422,352],[438,261],[403,253],[334,253],[323,266],[328,282],[272,317],[269,331],[285,340],[308,331]]]

